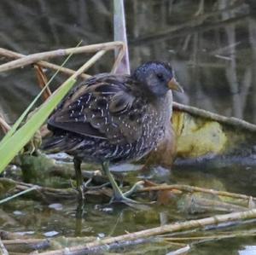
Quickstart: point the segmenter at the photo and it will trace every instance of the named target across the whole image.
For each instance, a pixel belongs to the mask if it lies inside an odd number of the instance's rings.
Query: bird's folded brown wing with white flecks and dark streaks
[[[145,99],[124,76],[99,75],[79,84],[49,118],[49,127],[113,143],[135,142],[142,135]]]

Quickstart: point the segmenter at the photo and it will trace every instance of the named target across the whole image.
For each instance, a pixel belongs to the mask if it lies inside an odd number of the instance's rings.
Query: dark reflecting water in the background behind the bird
[[[25,54],[113,38],[112,1],[2,1],[2,47]],[[187,94],[177,101],[256,123],[253,1],[125,1],[131,66],[171,61]],[[19,20],[19,22],[17,22]],[[79,67],[84,56],[70,67]],[[108,71],[111,57],[90,70]],[[12,121],[38,93],[33,71],[0,74],[1,108]],[[20,96],[21,95],[21,96]],[[11,103],[10,103],[11,102]]]

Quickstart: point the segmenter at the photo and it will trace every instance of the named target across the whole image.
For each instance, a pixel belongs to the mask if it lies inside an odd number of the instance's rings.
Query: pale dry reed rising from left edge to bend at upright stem
[[[21,59],[15,61],[9,61],[0,66],[0,72],[9,71],[11,69],[15,69],[18,67],[25,67],[32,63],[43,61],[49,58],[53,58],[56,56],[64,56],[72,54],[79,54],[84,52],[97,52],[99,50],[110,50],[116,49],[119,47],[123,47],[124,43],[122,42],[110,42],[110,43],[98,43],[98,44],[91,44],[86,46],[81,46],[77,48],[68,48],[68,49],[56,49],[50,50],[45,52],[40,52],[32,55],[27,55]]]

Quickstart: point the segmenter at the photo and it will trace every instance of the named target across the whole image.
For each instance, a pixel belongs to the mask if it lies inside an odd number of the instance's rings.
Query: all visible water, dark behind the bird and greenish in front
[[[186,91],[184,96],[175,95],[177,101],[256,123],[255,3],[233,2],[230,6],[231,1],[224,0],[125,1],[131,67],[144,61],[170,61]],[[73,47],[81,39],[89,44],[113,38],[110,1],[63,0],[60,4],[60,1],[4,0],[0,7],[1,47],[23,54]],[[75,56],[68,67],[79,67],[84,58]],[[112,61],[108,55],[89,72],[108,72]],[[25,67],[0,73],[0,91],[0,112],[13,122],[38,94],[34,71]],[[236,160],[226,165],[216,161],[201,165],[177,162],[171,173],[163,173],[159,181],[256,196],[252,162],[241,165]],[[154,173],[148,175],[155,177]],[[163,219],[172,223],[195,217],[176,206],[155,205],[147,212],[114,207],[102,212],[96,209],[97,203],[90,203],[79,219],[74,201],[60,203],[60,207],[49,207],[40,201],[14,200],[2,206],[3,215],[7,214],[9,220],[0,219],[1,229],[32,231],[32,237],[42,238],[55,234],[108,236],[156,227]],[[245,225],[245,229],[253,228],[255,223]],[[256,254],[253,245],[253,237],[209,241],[193,246],[188,254]]]

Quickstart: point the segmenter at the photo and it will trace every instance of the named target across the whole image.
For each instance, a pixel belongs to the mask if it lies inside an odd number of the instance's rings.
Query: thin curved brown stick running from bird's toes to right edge
[[[200,187],[189,186],[189,185],[184,185],[184,184],[157,185],[157,186],[138,189],[137,192],[171,190],[171,189],[178,189],[178,190],[183,190],[183,191],[187,191],[187,192],[191,192],[191,193],[192,192],[202,192],[202,193],[207,193],[207,194],[217,194],[217,195],[232,197],[232,198],[241,199],[241,200],[252,200],[253,199],[256,201],[256,198],[246,195],[246,194],[237,194],[237,193],[231,193],[231,192],[227,192],[227,191],[218,191],[215,189],[200,188]]]

